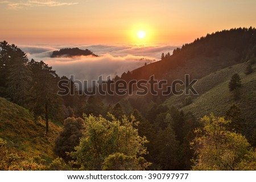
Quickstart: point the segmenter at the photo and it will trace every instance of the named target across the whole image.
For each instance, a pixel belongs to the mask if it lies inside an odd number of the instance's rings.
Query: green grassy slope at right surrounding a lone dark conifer
[[[184,106],[186,96],[171,96],[164,104],[171,107],[191,111],[197,118],[209,115],[213,112],[215,115],[223,116],[233,103],[237,103],[241,108],[242,117],[247,122],[256,121],[256,71],[245,75],[246,64],[238,64],[225,69],[218,70],[214,73],[199,79],[195,84],[195,89],[199,92],[198,96],[192,96],[193,103]],[[256,65],[254,65],[255,70]],[[240,74],[242,87],[240,88],[241,99],[235,101],[233,93],[229,91],[228,84],[234,73]]]

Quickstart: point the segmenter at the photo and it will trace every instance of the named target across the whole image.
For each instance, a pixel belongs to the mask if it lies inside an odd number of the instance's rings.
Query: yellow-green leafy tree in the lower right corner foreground
[[[191,142],[196,154],[193,170],[243,170],[241,162],[250,151],[246,138],[230,132],[231,121],[224,117],[211,114],[201,121],[204,127],[195,130],[197,137]]]

